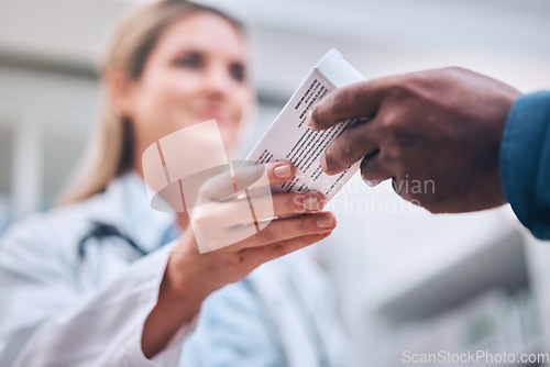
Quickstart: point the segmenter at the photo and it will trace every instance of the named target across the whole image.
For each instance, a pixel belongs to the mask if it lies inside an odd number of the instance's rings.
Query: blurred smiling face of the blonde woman
[[[248,73],[245,41],[223,18],[198,12],[168,26],[124,98],[124,113],[134,124],[135,162],[158,138],[210,119],[231,148],[255,103]]]

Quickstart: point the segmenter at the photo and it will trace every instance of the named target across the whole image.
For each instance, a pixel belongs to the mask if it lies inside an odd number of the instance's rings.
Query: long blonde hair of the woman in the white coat
[[[101,63],[101,75],[119,68],[133,80],[142,75],[147,56],[162,33],[183,16],[195,12],[215,13],[244,34],[241,23],[209,7],[184,0],[164,0],[135,9],[121,22]],[[132,122],[114,109],[103,92],[100,123],[86,152],[68,179],[58,204],[86,200],[105,191],[109,181],[133,167]]]

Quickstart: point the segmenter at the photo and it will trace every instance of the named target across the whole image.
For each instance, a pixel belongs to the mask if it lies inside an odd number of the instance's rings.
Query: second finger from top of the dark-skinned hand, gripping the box
[[[350,125],[338,135],[320,157],[321,168],[336,175],[378,149],[375,121]]]

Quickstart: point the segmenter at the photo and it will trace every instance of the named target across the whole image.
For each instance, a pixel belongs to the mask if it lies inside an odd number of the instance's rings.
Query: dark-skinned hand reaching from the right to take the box
[[[308,114],[312,130],[369,118],[346,129],[321,156],[329,175],[362,159],[375,186],[433,213],[470,212],[505,203],[498,169],[501,140],[516,89],[450,67],[373,79],[337,89]]]

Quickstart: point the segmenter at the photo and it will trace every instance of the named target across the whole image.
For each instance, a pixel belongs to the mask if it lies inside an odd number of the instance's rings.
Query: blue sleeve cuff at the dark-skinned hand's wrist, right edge
[[[501,143],[506,200],[519,221],[550,240],[550,91],[521,96],[512,107]]]

